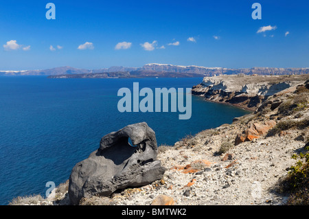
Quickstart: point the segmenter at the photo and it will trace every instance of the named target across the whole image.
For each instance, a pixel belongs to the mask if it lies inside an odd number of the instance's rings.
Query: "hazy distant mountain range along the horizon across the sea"
[[[100,75],[95,76],[95,73]],[[108,74],[109,73],[109,74]],[[141,77],[203,77],[222,74],[245,75],[291,75],[309,73],[309,68],[271,68],[253,67],[246,69],[229,69],[223,67],[181,66],[151,63],[143,67],[109,67],[104,69],[76,69],[73,67],[56,67],[44,70],[0,71],[0,76],[61,76],[61,78],[141,78]],[[77,76],[84,74],[84,76]],[[60,77],[57,77],[60,78]]]

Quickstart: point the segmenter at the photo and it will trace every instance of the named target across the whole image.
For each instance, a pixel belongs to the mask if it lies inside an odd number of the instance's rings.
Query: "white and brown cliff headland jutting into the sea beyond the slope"
[[[306,82],[309,75],[299,76],[214,76],[205,77],[201,84],[192,88],[192,94],[206,100],[232,104],[255,111],[257,106],[285,89],[295,89]]]

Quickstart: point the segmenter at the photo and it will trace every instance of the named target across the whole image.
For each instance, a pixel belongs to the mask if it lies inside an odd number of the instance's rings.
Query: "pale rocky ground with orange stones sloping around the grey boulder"
[[[308,91],[308,83],[288,89],[233,124],[160,146],[157,158],[167,169],[161,180],[80,204],[284,205],[289,194],[279,182],[295,165],[293,154],[308,146]],[[60,185],[54,198],[36,198],[30,204],[68,205],[67,186]],[[29,204],[22,199],[11,204]]]

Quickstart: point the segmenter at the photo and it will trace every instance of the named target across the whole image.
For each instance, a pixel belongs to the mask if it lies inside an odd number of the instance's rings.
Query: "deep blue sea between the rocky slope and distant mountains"
[[[128,124],[147,122],[158,146],[174,145],[185,135],[231,123],[248,113],[192,96],[192,117],[176,113],[119,113],[117,91],[190,88],[202,78],[49,79],[0,77],[0,205],[16,196],[42,194],[47,181],[69,178],[76,163],[98,149],[100,139]],[[155,92],[154,92],[155,93]]]

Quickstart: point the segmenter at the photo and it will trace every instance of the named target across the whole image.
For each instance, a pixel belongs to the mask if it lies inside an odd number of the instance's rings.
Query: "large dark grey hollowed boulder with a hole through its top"
[[[148,185],[164,172],[157,160],[155,132],[146,122],[132,124],[102,137],[100,148],[74,166],[69,198],[78,205],[83,197],[109,196],[117,189]]]

